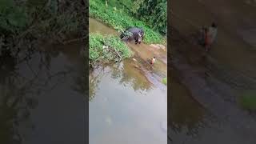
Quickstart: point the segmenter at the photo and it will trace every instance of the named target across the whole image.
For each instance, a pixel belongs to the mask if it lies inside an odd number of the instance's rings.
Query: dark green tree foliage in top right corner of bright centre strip
[[[140,2],[137,14],[138,18],[150,24],[154,30],[162,34],[167,33],[167,1],[149,0]]]

